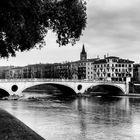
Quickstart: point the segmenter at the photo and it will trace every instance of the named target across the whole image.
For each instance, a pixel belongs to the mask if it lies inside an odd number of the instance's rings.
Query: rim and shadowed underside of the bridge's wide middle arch
[[[52,93],[54,95],[61,95],[61,94],[63,96],[76,95],[76,92],[75,92],[75,90],[72,87],[70,87],[68,85],[61,84],[61,83],[38,83],[38,84],[35,84],[35,85],[28,85],[25,88],[23,88],[21,90],[21,92],[24,92],[27,89],[32,88],[32,87],[43,86],[43,85],[47,85],[47,86],[50,85],[50,86],[53,86],[53,87],[55,87],[55,88],[57,88],[58,90],[61,91],[61,93]]]

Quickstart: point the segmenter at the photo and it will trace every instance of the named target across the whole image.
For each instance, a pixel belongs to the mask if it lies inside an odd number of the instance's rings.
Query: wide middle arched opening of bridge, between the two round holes
[[[26,93],[25,93],[26,92]],[[30,94],[34,96],[59,96],[59,97],[70,97],[70,96],[75,96],[76,93],[75,91],[68,86],[65,85],[60,85],[60,84],[52,84],[52,83],[47,83],[47,84],[40,84],[40,85],[35,85],[32,87],[28,87],[25,90],[23,90],[24,94]]]

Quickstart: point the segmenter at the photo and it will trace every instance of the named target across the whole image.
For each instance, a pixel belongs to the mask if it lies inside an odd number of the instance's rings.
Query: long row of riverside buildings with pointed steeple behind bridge
[[[140,81],[140,65],[133,69],[133,63],[115,56],[87,59],[83,45],[78,61],[14,67],[6,71],[5,76],[1,73],[1,77],[126,81],[126,77],[134,75],[134,79]]]

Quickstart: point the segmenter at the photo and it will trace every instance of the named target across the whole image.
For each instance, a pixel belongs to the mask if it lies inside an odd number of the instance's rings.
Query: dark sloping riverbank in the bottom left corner
[[[45,140],[23,122],[0,109],[0,140]]]

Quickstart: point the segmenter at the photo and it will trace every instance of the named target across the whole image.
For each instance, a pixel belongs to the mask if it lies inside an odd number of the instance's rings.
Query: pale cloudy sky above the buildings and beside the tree
[[[88,58],[117,56],[140,63],[140,0],[87,0],[87,27],[76,45],[61,46],[54,33],[46,46],[0,59],[0,66],[25,66],[80,59],[83,44]]]

